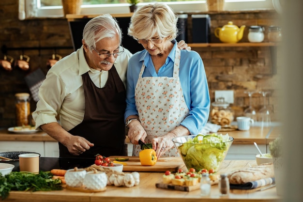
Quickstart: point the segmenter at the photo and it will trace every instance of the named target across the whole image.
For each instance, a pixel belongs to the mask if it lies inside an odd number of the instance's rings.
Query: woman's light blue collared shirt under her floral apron
[[[173,76],[175,49],[177,47],[176,41],[173,42],[175,42],[175,45],[168,54],[165,64],[159,69],[158,74],[147,50],[135,53],[129,60],[124,119],[130,115],[138,114],[134,95],[142,62],[146,66],[142,77]],[[179,78],[186,105],[190,110],[189,116],[182,121],[181,125],[186,127],[192,135],[197,135],[207,123],[210,112],[210,95],[204,64],[197,52],[181,50]]]

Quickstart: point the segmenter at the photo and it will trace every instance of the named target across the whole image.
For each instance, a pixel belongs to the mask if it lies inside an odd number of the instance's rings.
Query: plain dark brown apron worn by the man
[[[91,157],[100,154],[127,155],[125,148],[124,111],[125,87],[115,66],[108,71],[108,79],[103,88],[98,88],[87,73],[82,75],[85,94],[85,113],[82,123],[69,131],[94,143],[83,154],[71,155],[68,149],[59,143],[60,157]]]

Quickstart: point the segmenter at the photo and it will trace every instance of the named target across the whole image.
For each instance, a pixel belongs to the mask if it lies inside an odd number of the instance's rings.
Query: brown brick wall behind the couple
[[[24,77],[41,68],[46,74],[46,61],[53,53],[66,56],[73,51],[69,26],[65,18],[44,18],[18,20],[18,0],[0,1],[0,46],[6,46],[7,54],[18,59],[20,54],[30,56],[30,70],[27,72],[14,68],[8,72],[0,69],[0,127],[15,126],[15,93],[28,92]],[[210,13],[212,20],[212,42],[219,40],[214,36],[216,27],[227,21],[235,25],[278,25],[273,11],[245,11]],[[191,43],[191,19],[188,18],[188,43]],[[241,42],[247,42],[248,28],[245,28]],[[265,32],[266,35],[266,32]],[[264,41],[266,41],[265,38]],[[26,47],[22,49],[20,47]],[[38,48],[37,48],[38,47]],[[39,48],[40,47],[40,48]],[[56,48],[51,48],[56,47]],[[245,90],[267,89],[267,105],[273,109],[272,119],[278,120],[278,75],[272,73],[271,51],[269,47],[203,47],[193,48],[201,55],[210,87],[212,101],[215,90],[233,90],[235,103],[232,108],[241,115],[248,107]],[[0,58],[3,59],[3,49]],[[31,100],[31,111],[35,109]],[[260,94],[254,94],[253,105],[259,109],[263,104]]]

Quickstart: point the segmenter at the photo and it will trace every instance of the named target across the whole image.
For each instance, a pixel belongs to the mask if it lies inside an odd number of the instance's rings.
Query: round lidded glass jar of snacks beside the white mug
[[[224,101],[224,97],[220,97],[212,103],[210,118],[212,124],[230,125],[234,120],[234,110]]]

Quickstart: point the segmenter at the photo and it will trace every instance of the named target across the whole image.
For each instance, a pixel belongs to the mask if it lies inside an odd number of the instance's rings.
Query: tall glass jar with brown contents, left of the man
[[[30,124],[30,94],[29,93],[16,93],[15,94],[15,107],[16,107],[16,124],[17,126]]]

